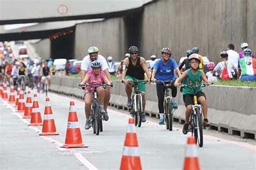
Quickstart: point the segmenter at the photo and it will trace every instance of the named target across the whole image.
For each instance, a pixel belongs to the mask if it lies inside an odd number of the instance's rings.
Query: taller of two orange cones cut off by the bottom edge
[[[142,169],[133,118],[129,118],[120,169]]]

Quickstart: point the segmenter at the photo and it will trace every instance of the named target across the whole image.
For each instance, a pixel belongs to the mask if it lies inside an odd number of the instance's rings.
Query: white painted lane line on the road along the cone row
[[[2,101],[4,103],[4,101]],[[8,107],[12,110],[12,114],[16,115],[18,118],[20,118],[25,124],[29,124],[28,121],[26,121],[26,119],[23,119],[22,116],[16,112],[16,110],[14,109],[14,107],[12,107],[9,103],[4,103],[4,105],[8,105]],[[38,132],[41,132],[41,130],[39,130],[38,128],[36,128],[35,126],[29,126],[30,129]],[[45,140],[50,141],[50,143],[53,143],[55,145],[57,145],[56,147],[58,148],[58,150],[60,151],[69,151],[70,153],[72,153],[73,155],[75,155],[75,157],[88,169],[92,169],[92,170],[96,170],[97,168],[91,164],[91,162],[89,162],[86,158],[84,158],[84,156],[79,153],[77,150],[73,149],[73,148],[61,148],[60,146],[62,146],[63,144],[60,143],[59,141],[52,139],[50,137],[46,137],[46,136],[39,136]]]

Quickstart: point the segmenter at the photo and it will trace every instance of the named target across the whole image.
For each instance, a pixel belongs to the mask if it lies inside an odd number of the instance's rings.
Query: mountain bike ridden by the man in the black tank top
[[[122,81],[123,82],[123,81]],[[142,82],[144,84],[147,83],[145,80],[136,80],[130,81],[128,80],[128,84],[132,84],[134,91],[132,95],[132,104],[131,104],[131,115],[134,118],[135,126],[142,126],[142,91],[139,90],[139,83]]]

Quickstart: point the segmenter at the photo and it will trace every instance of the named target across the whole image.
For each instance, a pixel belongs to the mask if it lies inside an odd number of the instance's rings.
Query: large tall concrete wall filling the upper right
[[[174,58],[199,46],[200,54],[219,61],[219,53],[233,43],[240,51],[243,41],[256,51],[254,0],[163,0],[145,6],[141,53],[160,55],[163,47],[173,49]]]

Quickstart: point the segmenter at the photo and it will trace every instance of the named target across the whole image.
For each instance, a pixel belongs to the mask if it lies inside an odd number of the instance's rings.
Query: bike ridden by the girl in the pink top
[[[99,112],[99,98],[97,95],[97,88],[103,87],[104,89],[109,87],[106,84],[85,84],[80,86],[80,88],[93,87],[93,98],[92,98],[92,114],[89,118],[90,123],[92,124],[93,133],[99,135],[99,132],[103,131],[102,120],[104,120],[103,115]]]

